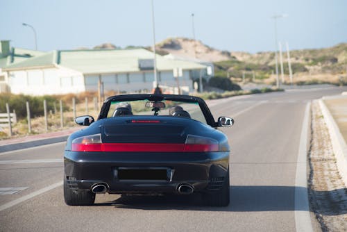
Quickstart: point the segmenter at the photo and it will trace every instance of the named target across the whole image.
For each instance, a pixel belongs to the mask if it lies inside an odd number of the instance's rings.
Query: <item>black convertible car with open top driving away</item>
[[[65,147],[64,197],[68,205],[94,204],[96,193],[193,194],[209,206],[229,204],[228,138],[203,99],[172,94],[109,97],[98,119]]]

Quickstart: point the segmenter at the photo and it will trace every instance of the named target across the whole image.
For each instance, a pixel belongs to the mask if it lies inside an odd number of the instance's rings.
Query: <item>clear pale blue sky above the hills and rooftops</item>
[[[153,0],[155,41],[193,38],[224,51],[274,51],[332,47],[347,42],[346,0]],[[0,40],[35,49],[153,44],[151,0],[0,0]]]

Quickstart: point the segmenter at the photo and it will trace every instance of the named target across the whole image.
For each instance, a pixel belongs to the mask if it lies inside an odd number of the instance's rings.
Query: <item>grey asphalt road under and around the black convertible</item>
[[[296,231],[295,210],[305,211],[294,199],[305,108],[312,99],[346,90],[209,101],[215,118],[235,119],[223,129],[232,147],[228,207],[201,206],[192,196],[110,194],[97,195],[95,206],[67,206],[64,143],[0,153],[0,231]]]

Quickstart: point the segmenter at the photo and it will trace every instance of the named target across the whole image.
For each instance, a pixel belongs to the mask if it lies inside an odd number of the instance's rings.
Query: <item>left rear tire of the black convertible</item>
[[[64,199],[68,206],[90,206],[94,204],[95,193],[84,190],[71,190],[64,176]]]

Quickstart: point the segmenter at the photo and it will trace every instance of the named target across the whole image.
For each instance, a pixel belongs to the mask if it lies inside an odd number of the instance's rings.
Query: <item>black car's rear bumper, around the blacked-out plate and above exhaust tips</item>
[[[98,153],[65,151],[65,176],[70,188],[91,190],[105,183],[109,193],[169,193],[188,183],[194,191],[219,189],[229,165],[229,152]],[[167,169],[166,180],[122,180],[119,169]]]

